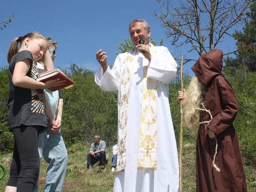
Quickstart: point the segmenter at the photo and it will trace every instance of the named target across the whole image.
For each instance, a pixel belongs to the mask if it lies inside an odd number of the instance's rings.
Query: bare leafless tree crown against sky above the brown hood
[[[179,4],[156,1],[161,12],[155,11],[153,15],[161,20],[172,44],[178,51],[181,46],[190,44],[187,52],[196,51],[199,56],[214,50],[225,38],[233,38],[231,29],[245,23],[246,13],[252,6],[252,0],[182,0]],[[245,46],[239,49],[246,49]]]

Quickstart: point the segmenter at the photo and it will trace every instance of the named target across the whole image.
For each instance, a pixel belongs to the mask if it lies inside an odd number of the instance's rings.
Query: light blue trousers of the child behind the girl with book
[[[59,131],[57,133],[49,133],[49,131],[50,128],[48,125],[47,129],[41,132],[38,136],[39,158],[41,160],[41,158],[44,157],[44,160],[49,164],[46,173],[44,191],[60,192],[66,176],[68,153],[62,134]],[[34,192],[38,191],[38,180],[39,174],[36,180]]]

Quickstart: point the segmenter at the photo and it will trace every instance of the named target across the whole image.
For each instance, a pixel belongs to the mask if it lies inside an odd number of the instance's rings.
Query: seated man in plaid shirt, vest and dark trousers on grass
[[[92,169],[92,164],[100,161],[100,168],[105,168],[106,161],[106,143],[100,140],[100,135],[94,135],[94,143],[91,145],[90,152],[87,154],[87,167]]]

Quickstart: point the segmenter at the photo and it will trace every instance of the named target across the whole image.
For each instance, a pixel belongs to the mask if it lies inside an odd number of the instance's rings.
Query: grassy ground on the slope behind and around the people
[[[68,148],[68,169],[63,192],[112,191],[115,173],[111,172],[111,148],[108,148],[110,160],[104,170],[101,170],[99,166],[94,166],[92,170],[87,171],[86,158],[89,148],[90,146],[84,146],[83,144],[74,144]],[[183,151],[183,190],[189,192],[196,191],[195,140],[185,140]],[[8,180],[11,157],[12,153],[0,154],[0,163],[6,167],[6,175],[0,181],[0,192],[4,192]],[[42,160],[39,179],[40,192],[44,191],[46,169],[47,164]],[[256,167],[244,165],[244,170],[248,192],[256,191]]]

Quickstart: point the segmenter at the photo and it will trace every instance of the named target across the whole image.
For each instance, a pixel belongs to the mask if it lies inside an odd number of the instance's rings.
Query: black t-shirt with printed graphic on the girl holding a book
[[[9,129],[24,125],[42,125],[47,127],[45,118],[45,98],[42,89],[26,89],[12,84],[14,66],[17,62],[29,58],[31,60],[27,76],[36,81],[38,69],[31,52],[21,51],[12,57],[9,64],[10,93],[8,98]]]

